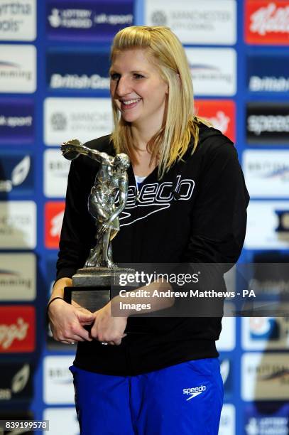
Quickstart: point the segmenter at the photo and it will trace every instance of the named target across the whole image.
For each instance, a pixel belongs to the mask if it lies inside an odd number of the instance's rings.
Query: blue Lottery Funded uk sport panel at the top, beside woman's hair
[[[133,25],[133,1],[48,1],[46,31],[59,41],[111,41]]]

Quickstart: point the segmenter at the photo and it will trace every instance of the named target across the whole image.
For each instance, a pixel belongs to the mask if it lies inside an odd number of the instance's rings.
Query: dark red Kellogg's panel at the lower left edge
[[[0,318],[0,353],[33,352],[35,349],[33,306],[1,306]]]

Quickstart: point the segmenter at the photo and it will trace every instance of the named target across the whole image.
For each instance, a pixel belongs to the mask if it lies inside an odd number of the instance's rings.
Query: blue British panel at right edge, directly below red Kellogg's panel
[[[248,56],[247,87],[250,92],[289,92],[289,56],[263,55]]]

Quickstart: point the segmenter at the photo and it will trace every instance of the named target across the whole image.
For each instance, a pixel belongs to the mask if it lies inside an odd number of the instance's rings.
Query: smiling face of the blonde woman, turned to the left
[[[159,129],[163,124],[168,85],[150,62],[146,50],[135,48],[114,55],[110,68],[111,98],[126,122]]]

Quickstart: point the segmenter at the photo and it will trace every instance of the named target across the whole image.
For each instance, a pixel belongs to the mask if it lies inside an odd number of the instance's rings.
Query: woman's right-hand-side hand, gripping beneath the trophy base
[[[90,331],[92,338],[111,345],[120,345],[126,337],[127,317],[111,316],[111,302],[94,313],[94,325]]]

